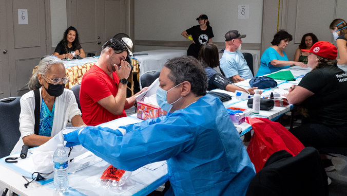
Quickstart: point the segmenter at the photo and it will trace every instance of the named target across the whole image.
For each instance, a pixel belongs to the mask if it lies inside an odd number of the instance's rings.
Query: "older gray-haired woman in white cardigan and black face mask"
[[[73,127],[85,126],[72,91],[65,88],[69,81],[62,61],[53,56],[44,57],[31,76],[30,92],[21,98],[21,138],[11,154],[20,152],[24,144],[35,147],[45,144],[66,127],[68,121]],[[40,95],[40,124],[35,134],[35,92]]]

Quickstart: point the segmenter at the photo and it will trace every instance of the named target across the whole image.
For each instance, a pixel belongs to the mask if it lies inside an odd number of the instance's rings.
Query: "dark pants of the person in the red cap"
[[[305,147],[347,147],[347,125],[307,123],[289,130]]]

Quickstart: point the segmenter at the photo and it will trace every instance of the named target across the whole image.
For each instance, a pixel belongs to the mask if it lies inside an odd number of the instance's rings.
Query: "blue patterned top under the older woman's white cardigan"
[[[52,112],[49,111],[45,101],[42,98],[41,111],[40,111],[40,129],[38,129],[38,135],[42,136],[51,136],[52,127],[53,127],[53,118],[54,118],[54,108],[55,100],[53,103]]]

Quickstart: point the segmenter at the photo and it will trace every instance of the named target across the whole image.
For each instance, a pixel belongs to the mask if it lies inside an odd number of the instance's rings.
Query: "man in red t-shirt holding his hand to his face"
[[[88,126],[125,117],[138,94],[126,98],[131,67],[125,61],[128,47],[121,41],[107,41],[98,61],[84,74],[80,89],[82,119]]]

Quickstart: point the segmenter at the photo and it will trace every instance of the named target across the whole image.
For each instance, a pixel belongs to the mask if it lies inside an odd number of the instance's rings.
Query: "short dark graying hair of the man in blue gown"
[[[177,57],[166,61],[164,66],[170,69],[168,78],[175,83],[175,85],[188,81],[192,93],[196,96],[206,95],[206,72],[196,58],[190,56]]]

